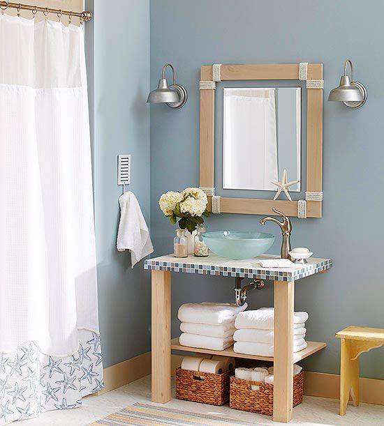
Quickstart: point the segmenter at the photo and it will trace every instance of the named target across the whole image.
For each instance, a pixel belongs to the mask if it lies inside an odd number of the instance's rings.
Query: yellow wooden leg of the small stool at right
[[[346,413],[350,393],[353,405],[359,404],[359,358],[351,359],[352,345],[350,340],[341,339],[340,416]]]

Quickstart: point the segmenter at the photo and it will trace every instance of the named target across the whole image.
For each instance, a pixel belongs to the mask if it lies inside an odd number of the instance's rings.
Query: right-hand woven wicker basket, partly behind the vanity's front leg
[[[251,385],[259,386],[259,390],[251,390]],[[293,377],[293,406],[302,403],[304,388],[304,372]],[[230,408],[252,413],[273,415],[273,385],[269,383],[230,379]]]

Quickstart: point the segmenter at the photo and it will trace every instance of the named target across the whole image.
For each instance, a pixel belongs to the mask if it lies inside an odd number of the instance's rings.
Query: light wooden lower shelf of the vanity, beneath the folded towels
[[[324,349],[327,344],[323,342],[307,342],[308,346],[300,352],[296,352],[293,354],[293,362],[297,363],[307,356],[312,355],[312,353],[316,353],[321,349]],[[262,361],[271,361],[273,363],[273,356],[258,356],[258,355],[245,355],[244,353],[237,353],[233,350],[233,347],[229,347],[228,349],[224,349],[223,351],[212,351],[210,349],[200,349],[182,346],[179,343],[179,337],[172,339],[170,342],[171,349],[175,349],[177,351],[186,351],[186,352],[197,352],[197,353],[209,353],[210,355],[221,355],[221,356],[233,356],[234,358],[246,358],[249,360],[262,360]]]

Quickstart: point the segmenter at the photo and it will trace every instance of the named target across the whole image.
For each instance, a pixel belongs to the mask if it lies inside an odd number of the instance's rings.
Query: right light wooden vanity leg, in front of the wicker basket
[[[293,410],[293,311],[295,282],[274,282],[274,413],[287,423]]]

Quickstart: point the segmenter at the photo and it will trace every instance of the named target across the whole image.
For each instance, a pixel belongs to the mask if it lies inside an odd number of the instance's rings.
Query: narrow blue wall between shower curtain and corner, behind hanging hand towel
[[[150,349],[150,281],[116,250],[117,155],[132,154],[131,185],[149,225],[149,1],[87,2],[89,98],[94,112],[98,305],[104,367]],[[121,10],[121,13],[118,11]],[[92,52],[89,47],[94,45]],[[94,81],[93,81],[94,80]],[[134,342],[134,344],[133,344]]]

